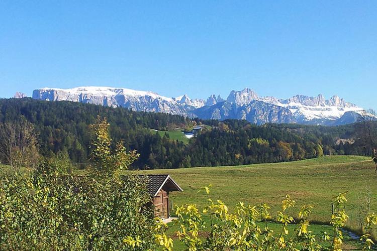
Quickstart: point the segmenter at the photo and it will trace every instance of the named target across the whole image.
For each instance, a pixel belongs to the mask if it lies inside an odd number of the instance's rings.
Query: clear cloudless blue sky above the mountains
[[[377,1],[0,1],[0,96],[83,85],[377,109]],[[374,89],[374,90],[373,90]]]

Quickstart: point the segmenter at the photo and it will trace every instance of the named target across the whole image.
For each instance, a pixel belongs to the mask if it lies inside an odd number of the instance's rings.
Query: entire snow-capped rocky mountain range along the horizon
[[[357,121],[363,108],[338,96],[325,99],[296,95],[288,99],[260,97],[245,88],[232,90],[226,99],[211,95],[191,99],[187,95],[165,97],[150,91],[112,87],[77,87],[72,89],[41,88],[33,91],[33,98],[48,101],[75,101],[135,111],[165,112],[203,119],[246,119],[255,124],[300,123],[336,126]]]

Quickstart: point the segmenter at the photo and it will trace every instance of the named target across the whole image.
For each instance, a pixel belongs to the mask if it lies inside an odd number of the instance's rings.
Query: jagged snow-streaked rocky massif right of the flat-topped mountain
[[[255,112],[257,109],[261,109],[258,112],[259,115],[250,117],[250,112]],[[258,116],[263,117],[261,114],[268,114],[265,109],[273,110],[277,113],[275,115],[269,114],[269,118],[255,119]],[[198,114],[199,117],[205,116],[206,118],[216,119],[241,118],[255,123],[268,121],[326,125],[339,124],[337,119],[340,119],[346,112],[355,113],[353,121],[349,119],[349,113],[347,119],[347,121],[355,122],[359,117],[357,114],[363,111],[362,108],[345,102],[338,96],[333,96],[329,100],[326,100],[321,94],[317,97],[296,95],[288,99],[278,99],[275,97],[259,97],[249,88],[241,91],[231,91],[225,102],[216,107],[214,106],[213,109],[207,108],[206,114],[203,114],[202,110],[199,112],[196,110],[194,113]]]

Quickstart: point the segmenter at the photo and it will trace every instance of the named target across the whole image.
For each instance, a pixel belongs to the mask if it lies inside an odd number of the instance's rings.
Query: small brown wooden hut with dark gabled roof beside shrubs
[[[170,192],[182,192],[182,188],[168,174],[146,175],[147,190],[152,198],[154,214],[167,219],[170,217]]]

